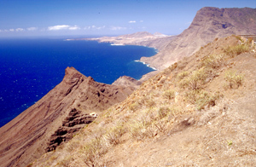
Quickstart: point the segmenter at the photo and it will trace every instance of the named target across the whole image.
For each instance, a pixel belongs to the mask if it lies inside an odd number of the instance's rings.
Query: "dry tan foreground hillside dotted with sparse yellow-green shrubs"
[[[255,49],[216,38],[31,166],[254,166]]]

